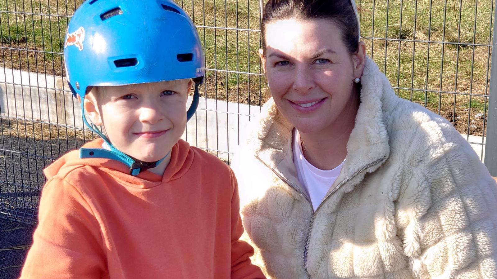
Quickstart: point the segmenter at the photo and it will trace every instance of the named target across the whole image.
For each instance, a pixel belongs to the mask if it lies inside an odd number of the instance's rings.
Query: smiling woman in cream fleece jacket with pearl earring
[[[497,278],[497,191],[449,122],[394,94],[350,0],[269,0],[272,98],[232,166],[275,278]]]

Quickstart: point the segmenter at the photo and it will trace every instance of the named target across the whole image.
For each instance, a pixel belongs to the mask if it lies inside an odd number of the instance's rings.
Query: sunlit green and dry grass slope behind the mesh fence
[[[257,54],[259,1],[177,2],[198,26],[206,67],[219,70],[207,71],[202,95],[254,105],[265,102],[263,92],[267,86],[264,76],[259,75]],[[63,75],[63,40],[69,16],[81,3],[82,0],[0,0],[1,66]],[[494,28],[492,0],[361,0],[357,4],[361,34],[368,38],[363,39],[367,52],[392,85],[398,87],[399,96],[448,119],[466,114],[470,104],[471,113],[488,109],[485,97],[454,97],[430,90],[489,93],[492,50],[487,45],[492,44]],[[457,123],[454,125],[458,128]],[[483,132],[475,131],[475,135]]]

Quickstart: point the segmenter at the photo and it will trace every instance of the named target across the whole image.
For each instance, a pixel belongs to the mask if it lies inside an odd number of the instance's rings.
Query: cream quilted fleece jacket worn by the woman
[[[274,278],[497,278],[497,188],[441,116],[395,95],[368,59],[340,175],[313,211],[272,100],[232,168],[245,228]]]

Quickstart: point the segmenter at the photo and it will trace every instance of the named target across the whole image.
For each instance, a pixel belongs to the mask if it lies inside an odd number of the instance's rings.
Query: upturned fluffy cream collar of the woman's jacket
[[[373,162],[384,161],[390,152],[382,110],[384,98],[395,96],[390,82],[368,58],[361,84],[361,103],[347,142],[346,161],[340,174],[345,179]],[[256,137],[248,140],[255,156],[295,182],[296,179],[292,179],[297,177],[292,153],[293,126],[281,115],[272,98],[264,105],[257,127]],[[380,165],[370,166],[366,171],[373,172]]]

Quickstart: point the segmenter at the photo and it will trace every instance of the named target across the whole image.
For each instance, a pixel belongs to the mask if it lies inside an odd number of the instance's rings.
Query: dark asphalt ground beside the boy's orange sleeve
[[[0,279],[18,278],[32,244],[45,183],[43,169],[83,143],[83,139],[35,140],[0,134]]]

